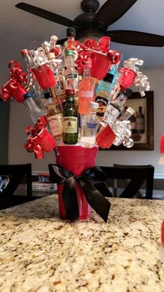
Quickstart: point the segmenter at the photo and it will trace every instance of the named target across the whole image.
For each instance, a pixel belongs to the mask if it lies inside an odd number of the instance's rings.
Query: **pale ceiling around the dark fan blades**
[[[80,7],[81,0],[23,1],[63,15],[70,20],[74,20],[77,15],[83,13]],[[44,20],[38,16],[31,15],[30,13],[15,8],[15,4],[19,2],[20,0],[0,1],[0,81],[6,76],[8,61],[10,61],[10,59],[17,59],[17,61],[24,63],[20,52],[24,48],[31,47],[33,41],[37,41],[38,46],[40,46],[44,40],[49,40],[51,35],[56,35],[58,38],[66,37],[65,26],[55,24],[54,22]],[[99,0],[100,6],[105,2],[106,0]],[[144,31],[164,36],[163,14],[163,0],[138,0],[132,8],[120,20],[111,25],[109,29]],[[143,59],[145,67],[164,66],[164,47],[139,47],[111,43],[111,48],[121,52],[124,59],[130,57]]]

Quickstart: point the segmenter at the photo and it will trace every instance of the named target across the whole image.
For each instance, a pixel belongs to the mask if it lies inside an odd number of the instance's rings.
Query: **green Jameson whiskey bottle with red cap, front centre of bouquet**
[[[78,141],[78,113],[74,106],[74,89],[66,89],[65,109],[63,110],[63,143],[76,144]]]

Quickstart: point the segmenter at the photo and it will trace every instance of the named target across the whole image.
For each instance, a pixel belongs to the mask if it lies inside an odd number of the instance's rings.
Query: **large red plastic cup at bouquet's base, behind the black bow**
[[[95,167],[98,147],[56,146],[54,151],[56,154],[56,164],[68,169],[76,176],[80,176],[89,167]],[[67,219],[62,192],[63,185],[60,184],[58,185],[59,214],[62,219]],[[79,204],[79,220],[87,219],[90,217],[91,207],[78,183],[76,183],[76,194]]]

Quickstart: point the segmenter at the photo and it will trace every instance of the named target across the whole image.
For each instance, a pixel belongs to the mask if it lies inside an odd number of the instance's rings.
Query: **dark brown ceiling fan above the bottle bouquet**
[[[50,11],[23,2],[17,3],[15,7],[40,16],[46,20],[50,20],[51,22],[74,27],[76,29],[76,39],[87,38],[88,36],[92,38],[110,36],[110,40],[115,43],[163,47],[164,36],[140,31],[107,30],[108,26],[119,20],[136,1],[138,0],[107,0],[106,3],[99,8],[99,1],[83,0],[81,1],[81,9],[84,13],[78,15],[74,20],[69,20],[56,13],[51,13]],[[97,10],[98,12],[96,13]],[[66,39],[59,40],[58,43],[63,44],[65,40]]]

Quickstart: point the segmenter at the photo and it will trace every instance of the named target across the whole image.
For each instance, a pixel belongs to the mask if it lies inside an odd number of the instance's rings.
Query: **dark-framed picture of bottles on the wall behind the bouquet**
[[[124,109],[126,107],[132,107],[135,110],[130,118],[133,147],[126,148],[121,144],[120,146],[112,145],[106,150],[154,150],[154,91],[146,91],[143,97],[139,92],[134,92],[124,103]]]

